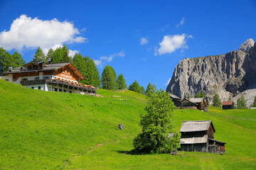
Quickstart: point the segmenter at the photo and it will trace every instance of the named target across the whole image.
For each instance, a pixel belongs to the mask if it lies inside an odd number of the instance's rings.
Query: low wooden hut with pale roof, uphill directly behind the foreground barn
[[[208,111],[208,105],[204,98],[183,98],[180,104],[181,108],[197,108]]]

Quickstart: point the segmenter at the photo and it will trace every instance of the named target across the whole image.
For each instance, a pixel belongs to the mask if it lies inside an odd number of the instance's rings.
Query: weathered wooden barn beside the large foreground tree
[[[225,153],[225,142],[214,140],[215,128],[210,120],[183,121],[181,150],[188,152]]]

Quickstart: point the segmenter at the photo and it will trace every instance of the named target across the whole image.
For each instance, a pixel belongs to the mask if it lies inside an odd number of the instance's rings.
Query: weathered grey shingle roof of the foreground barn
[[[213,127],[213,123],[210,120],[183,121],[180,132],[205,131],[208,130],[210,125]],[[213,132],[215,132],[214,127]]]

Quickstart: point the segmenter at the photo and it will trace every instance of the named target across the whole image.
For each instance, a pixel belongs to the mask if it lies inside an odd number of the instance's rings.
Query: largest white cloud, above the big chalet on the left
[[[82,30],[84,31],[84,30]],[[6,50],[23,48],[49,49],[65,43],[86,42],[78,28],[68,21],[60,22],[56,18],[43,21],[21,15],[11,23],[10,30],[0,33],[0,46]]]

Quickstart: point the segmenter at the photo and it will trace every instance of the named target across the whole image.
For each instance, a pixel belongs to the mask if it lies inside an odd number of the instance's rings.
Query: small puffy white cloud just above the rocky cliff
[[[175,50],[179,48],[187,48],[186,45],[186,38],[191,38],[192,35],[165,35],[164,39],[159,42],[159,49],[155,47],[155,55],[164,55],[166,53],[174,52]]]

